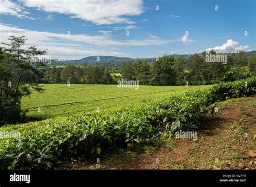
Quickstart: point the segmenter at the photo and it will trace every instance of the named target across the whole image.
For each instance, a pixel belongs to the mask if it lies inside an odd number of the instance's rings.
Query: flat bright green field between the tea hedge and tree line
[[[208,88],[209,85],[185,86],[147,86],[134,88],[117,88],[117,85],[84,85],[84,84],[41,84],[44,92],[32,92],[22,98],[22,108],[28,109],[27,116],[45,119],[57,116],[68,116],[86,112],[114,108],[143,99],[163,98],[188,90]],[[40,107],[41,112],[38,111]]]

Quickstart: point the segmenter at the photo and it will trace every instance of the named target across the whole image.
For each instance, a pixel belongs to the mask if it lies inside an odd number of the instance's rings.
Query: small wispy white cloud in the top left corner
[[[1,1],[0,14],[16,16],[18,18],[28,18],[31,20],[35,20],[35,18],[26,16],[26,15],[29,15],[29,12],[23,11],[23,10],[24,10],[23,6],[21,6],[17,3],[13,3],[9,0]]]

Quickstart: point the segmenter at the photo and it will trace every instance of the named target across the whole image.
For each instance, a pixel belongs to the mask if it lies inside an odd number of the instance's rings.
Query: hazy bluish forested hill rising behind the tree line
[[[225,54],[229,55],[231,53],[225,53]],[[245,54],[247,56],[250,56],[252,54],[256,54],[256,51],[245,52]],[[201,53],[199,53],[199,55],[201,55]],[[173,56],[176,57],[176,56],[178,56],[178,54],[174,54]],[[187,59],[190,56],[190,54],[185,54],[183,56],[185,57],[185,59]],[[97,57],[99,57],[99,61],[97,61]],[[141,58],[141,59],[142,60],[145,59],[147,62],[151,62],[154,59],[154,57]],[[130,60],[130,62],[134,62],[135,59],[130,58],[130,57],[119,57],[119,56],[88,56],[88,57],[84,57],[83,59],[79,59],[79,60],[55,61],[52,64],[53,65],[66,65],[66,64],[72,63],[75,65],[80,65],[80,64],[86,63],[86,64],[91,64],[91,65],[103,64],[103,66],[105,66],[105,67],[120,67],[124,60],[125,61]]]

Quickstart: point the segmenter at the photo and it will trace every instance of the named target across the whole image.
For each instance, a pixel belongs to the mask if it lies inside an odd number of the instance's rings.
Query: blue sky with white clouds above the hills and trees
[[[255,0],[0,0],[0,41],[52,59],[254,51]]]

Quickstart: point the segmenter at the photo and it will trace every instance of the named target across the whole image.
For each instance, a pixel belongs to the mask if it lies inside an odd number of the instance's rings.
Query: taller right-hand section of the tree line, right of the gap
[[[142,85],[189,85],[214,84],[221,81],[235,81],[256,76],[256,54],[246,56],[245,52],[227,55],[223,62],[207,62],[206,52],[193,54],[185,59],[164,55],[151,63],[136,59],[134,63],[124,61],[120,73],[125,80],[138,80]],[[212,55],[216,54],[211,51]]]

